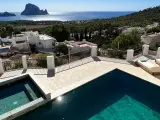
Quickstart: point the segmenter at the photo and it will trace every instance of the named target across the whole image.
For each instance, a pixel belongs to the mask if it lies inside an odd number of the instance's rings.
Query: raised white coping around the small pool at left
[[[40,92],[46,97],[40,97],[36,100],[33,100],[27,104],[21,105],[13,110],[10,110],[2,115],[0,115],[0,120],[12,120],[16,117],[19,117],[29,111],[34,110],[35,108],[47,103],[51,99],[51,93],[47,91],[42,84],[38,83],[37,78],[32,73],[25,73],[18,76],[14,76],[12,78],[6,78],[0,81],[0,86],[3,86],[5,84],[14,83],[16,81],[19,81],[22,78],[30,77],[31,81],[36,85],[36,87],[40,90]]]

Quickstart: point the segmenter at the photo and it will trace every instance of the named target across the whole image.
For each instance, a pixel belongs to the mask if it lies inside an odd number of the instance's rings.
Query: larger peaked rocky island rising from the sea
[[[40,10],[40,8],[34,4],[28,3],[25,7],[25,10],[21,15],[47,15],[47,10]]]

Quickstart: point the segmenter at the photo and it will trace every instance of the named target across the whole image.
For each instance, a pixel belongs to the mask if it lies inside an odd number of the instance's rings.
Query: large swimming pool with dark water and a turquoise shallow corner
[[[118,69],[17,120],[160,120],[160,87]]]

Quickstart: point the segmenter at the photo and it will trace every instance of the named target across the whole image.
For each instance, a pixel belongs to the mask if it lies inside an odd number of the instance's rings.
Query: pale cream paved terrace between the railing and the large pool
[[[36,75],[36,77],[41,81],[41,84],[45,85],[47,89],[51,91],[52,98],[55,98],[114,69],[120,69],[160,86],[160,80],[158,78],[148,74],[139,67],[107,61],[90,62],[88,64],[57,73],[54,77],[47,77],[44,75]]]

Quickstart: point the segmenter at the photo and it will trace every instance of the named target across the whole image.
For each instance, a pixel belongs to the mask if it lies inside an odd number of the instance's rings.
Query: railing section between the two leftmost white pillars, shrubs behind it
[[[21,69],[23,68],[22,59],[3,61],[3,67],[5,71]]]

